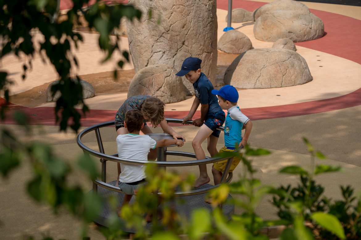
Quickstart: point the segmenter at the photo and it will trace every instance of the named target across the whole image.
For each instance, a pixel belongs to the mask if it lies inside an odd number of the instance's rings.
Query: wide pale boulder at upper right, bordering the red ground
[[[324,26],[320,18],[309,12],[275,10],[257,18],[253,33],[261,41],[274,42],[287,38],[303,42],[322,37]]]

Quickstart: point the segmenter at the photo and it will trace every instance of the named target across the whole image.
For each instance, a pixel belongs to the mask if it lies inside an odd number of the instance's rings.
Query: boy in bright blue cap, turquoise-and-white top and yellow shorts
[[[212,90],[213,94],[218,97],[218,103],[222,109],[227,110],[227,117],[225,123],[225,146],[219,150],[222,151],[234,151],[236,146],[240,147],[247,144],[247,140],[252,130],[252,122],[246,117],[239,107],[237,106],[238,91],[231,85],[225,85],[219,90]],[[244,136],[242,137],[242,129],[244,130]],[[223,171],[226,167],[227,160],[222,160],[213,164],[212,174],[214,179],[214,185],[221,182]],[[241,159],[234,157],[230,168],[232,172],[238,165]]]

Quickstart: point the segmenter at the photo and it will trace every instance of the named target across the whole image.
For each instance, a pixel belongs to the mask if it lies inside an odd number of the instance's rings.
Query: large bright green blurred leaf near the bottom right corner
[[[340,239],[346,239],[343,227],[334,215],[324,212],[315,212],[311,215],[311,218],[316,221],[318,225],[336,234]]]

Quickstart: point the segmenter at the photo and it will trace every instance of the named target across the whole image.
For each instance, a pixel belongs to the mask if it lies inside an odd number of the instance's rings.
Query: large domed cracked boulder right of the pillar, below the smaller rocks
[[[224,82],[235,87],[261,89],[300,85],[312,80],[305,59],[288,49],[252,49],[227,68]]]

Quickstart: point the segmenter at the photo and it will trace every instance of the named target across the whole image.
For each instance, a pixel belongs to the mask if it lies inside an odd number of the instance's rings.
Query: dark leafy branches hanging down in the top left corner
[[[75,49],[83,41],[80,33],[74,32],[74,23],[79,23],[79,18],[84,16],[90,28],[99,32],[99,47],[106,54],[104,61],[110,59],[114,52],[119,51],[128,61],[129,53],[122,51],[118,45],[119,37],[110,39],[109,35],[115,27],[119,26],[122,17],[130,20],[140,19],[141,12],[131,5],[114,4],[106,5],[96,1],[89,8],[83,8],[87,0],[73,0],[74,6],[66,13],[64,21],[53,21],[52,16],[57,13],[57,1],[55,0],[0,0],[0,59],[8,54],[18,57],[26,56],[27,63],[23,64],[22,78],[25,80],[26,72],[31,69],[31,61],[39,54],[43,60],[49,62],[56,69],[60,82],[53,85],[52,92],[61,92],[61,97],[56,102],[56,121],[60,122],[60,130],[66,130],[68,125],[77,131],[80,127],[81,113],[75,109],[75,105],[82,105],[82,114],[88,110],[82,97],[82,86],[78,81],[70,80],[70,69],[78,67],[75,57]],[[37,42],[34,32],[39,31],[44,36]],[[71,47],[73,46],[73,47]],[[74,64],[72,64],[72,62]],[[123,60],[118,61],[118,66],[123,66]],[[116,72],[114,71],[114,74]],[[5,117],[5,108],[9,101],[9,86],[12,81],[6,71],[0,71],[0,94],[6,102],[0,105],[1,117]],[[70,120],[70,121],[69,121]]]

